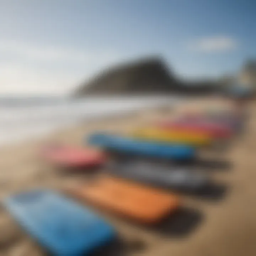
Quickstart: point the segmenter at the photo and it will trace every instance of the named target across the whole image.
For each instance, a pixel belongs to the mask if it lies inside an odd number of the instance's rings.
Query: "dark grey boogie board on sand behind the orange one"
[[[106,167],[114,176],[179,191],[198,191],[209,183],[208,176],[202,173],[142,160],[112,161]]]

